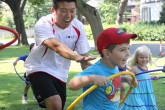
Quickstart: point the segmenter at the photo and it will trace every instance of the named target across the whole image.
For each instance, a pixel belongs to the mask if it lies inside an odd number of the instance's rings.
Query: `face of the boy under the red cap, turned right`
[[[117,44],[112,52],[109,51],[109,57],[106,57],[108,58],[108,66],[111,68],[114,68],[115,66],[124,68],[129,57],[129,47],[128,43],[122,43]]]

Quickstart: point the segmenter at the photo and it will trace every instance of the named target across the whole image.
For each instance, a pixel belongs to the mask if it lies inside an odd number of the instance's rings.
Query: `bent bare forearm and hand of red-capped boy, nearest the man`
[[[109,82],[109,79],[101,75],[79,76],[72,78],[68,84],[68,87],[71,90],[78,90],[92,82],[101,87],[106,85]]]

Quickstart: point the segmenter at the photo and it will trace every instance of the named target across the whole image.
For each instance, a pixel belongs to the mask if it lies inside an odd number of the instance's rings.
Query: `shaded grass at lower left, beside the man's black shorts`
[[[0,74],[0,109],[6,110],[43,110],[28,92],[28,104],[22,104],[25,83],[15,73]]]

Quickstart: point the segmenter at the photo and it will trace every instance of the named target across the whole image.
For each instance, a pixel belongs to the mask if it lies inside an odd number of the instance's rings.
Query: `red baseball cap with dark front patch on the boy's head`
[[[97,38],[97,50],[99,53],[102,53],[102,50],[110,44],[121,44],[136,37],[137,34],[127,34],[119,28],[108,28],[99,34]]]

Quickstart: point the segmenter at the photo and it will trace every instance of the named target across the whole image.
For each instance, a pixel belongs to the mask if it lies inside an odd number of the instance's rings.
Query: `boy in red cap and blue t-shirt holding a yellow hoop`
[[[118,73],[126,65],[129,57],[129,40],[136,34],[127,34],[118,28],[103,30],[97,39],[97,49],[102,59],[72,78],[69,89],[77,90],[83,87],[86,91],[93,84],[99,87],[83,99],[82,110],[117,110],[120,101],[121,82],[127,82],[131,87],[132,77],[124,75],[109,80],[107,77]]]

